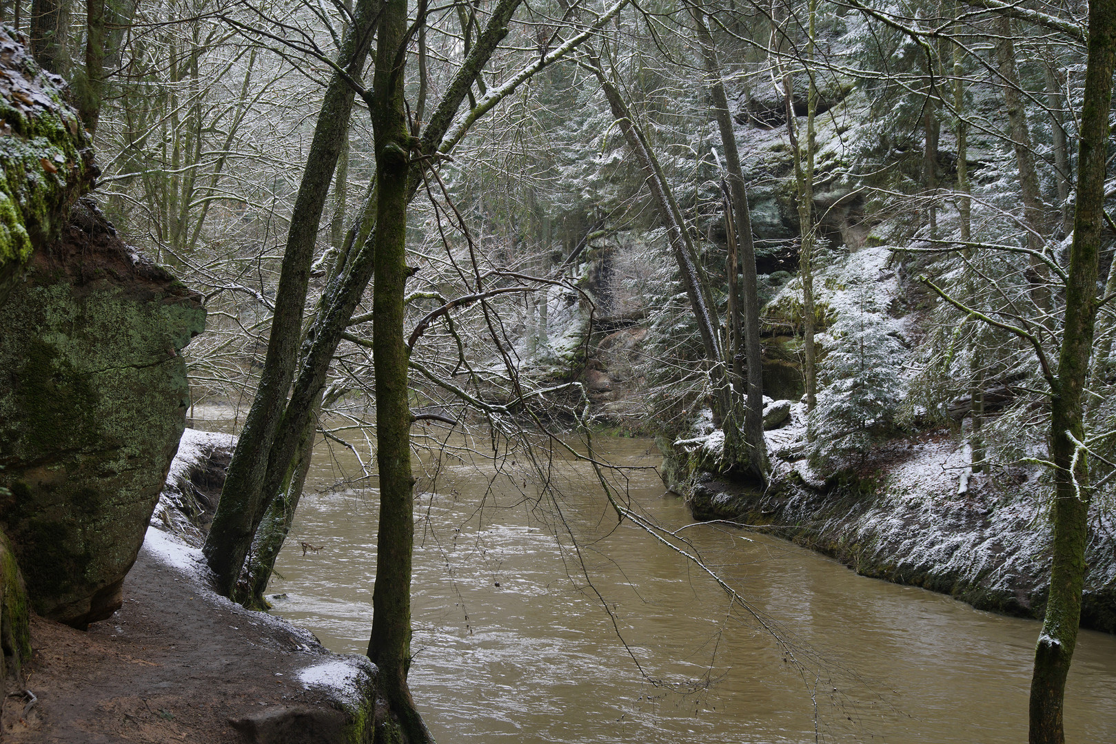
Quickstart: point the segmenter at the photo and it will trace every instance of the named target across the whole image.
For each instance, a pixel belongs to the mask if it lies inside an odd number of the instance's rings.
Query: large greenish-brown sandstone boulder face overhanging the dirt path
[[[201,298],[83,201],[0,307],[0,526],[35,610],[75,627],[121,606],[190,404],[179,351]]]

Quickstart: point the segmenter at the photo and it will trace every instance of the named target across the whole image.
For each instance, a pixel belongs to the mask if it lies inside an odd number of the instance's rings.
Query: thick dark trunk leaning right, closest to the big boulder
[[[378,3],[373,0],[357,3],[353,23],[338,51],[339,64],[353,76],[359,76],[364,69],[377,10]],[[353,97],[348,83],[339,74],[334,74],[318,114],[291,215],[260,384],[244,419],[221,491],[221,501],[205,539],[204,553],[217,578],[217,590],[227,597],[237,586],[256,528],[263,518],[268,501],[275,495],[266,494],[262,485],[295,373],[318,224],[348,128]],[[300,433],[301,427],[298,431]]]

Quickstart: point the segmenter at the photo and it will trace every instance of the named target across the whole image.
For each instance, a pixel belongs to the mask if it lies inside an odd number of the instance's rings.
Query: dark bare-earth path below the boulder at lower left
[[[333,741],[329,734],[347,719],[336,690],[299,680],[300,669],[339,658],[308,631],[218,598],[147,545],[125,580],[124,598],[112,618],[87,632],[32,620],[35,654],[23,671],[38,702],[21,717],[28,698],[4,699],[0,738],[318,742]],[[277,717],[295,722],[297,731],[288,724],[280,736],[266,736],[248,723]],[[315,734],[324,728],[331,731]]]

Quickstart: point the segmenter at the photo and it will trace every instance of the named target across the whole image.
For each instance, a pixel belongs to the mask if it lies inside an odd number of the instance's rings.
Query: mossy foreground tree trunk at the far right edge
[[[1046,618],[1035,649],[1031,679],[1030,742],[1062,744],[1066,675],[1077,644],[1088,538],[1088,466],[1078,442],[1085,441],[1081,389],[1089,368],[1097,313],[1097,264],[1104,229],[1105,172],[1113,66],[1116,60],[1116,1],[1089,3],[1089,54],[1078,149],[1074,243],[1066,281],[1066,325],[1052,380],[1050,451],[1055,463],[1054,562]],[[1080,456],[1075,457],[1075,454]]]

